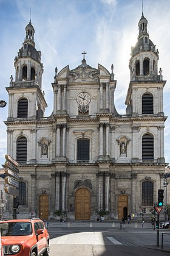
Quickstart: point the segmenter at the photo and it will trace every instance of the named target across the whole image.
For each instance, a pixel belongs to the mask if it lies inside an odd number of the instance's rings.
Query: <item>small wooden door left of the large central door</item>
[[[47,194],[39,196],[39,218],[49,218],[49,196],[47,196]]]

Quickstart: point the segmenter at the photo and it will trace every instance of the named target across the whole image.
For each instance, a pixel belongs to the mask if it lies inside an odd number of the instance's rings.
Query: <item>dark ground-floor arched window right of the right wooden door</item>
[[[153,205],[154,184],[150,181],[142,183],[142,205]]]

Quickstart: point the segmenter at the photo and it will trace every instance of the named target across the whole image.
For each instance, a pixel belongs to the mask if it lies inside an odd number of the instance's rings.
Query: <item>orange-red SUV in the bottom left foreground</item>
[[[4,255],[49,256],[49,233],[41,219],[0,221]]]

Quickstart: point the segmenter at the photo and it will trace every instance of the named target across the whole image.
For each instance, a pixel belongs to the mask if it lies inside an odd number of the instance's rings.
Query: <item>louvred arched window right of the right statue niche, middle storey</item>
[[[154,159],[154,137],[149,133],[142,137],[142,159]]]

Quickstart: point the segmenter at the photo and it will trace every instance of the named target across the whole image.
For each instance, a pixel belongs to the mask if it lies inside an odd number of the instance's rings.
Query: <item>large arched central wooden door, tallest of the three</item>
[[[86,188],[75,193],[75,219],[90,219],[90,192]]]

